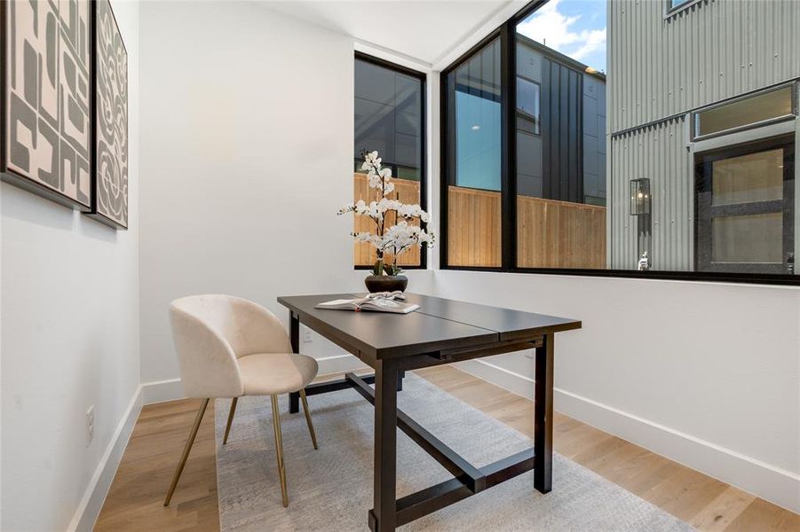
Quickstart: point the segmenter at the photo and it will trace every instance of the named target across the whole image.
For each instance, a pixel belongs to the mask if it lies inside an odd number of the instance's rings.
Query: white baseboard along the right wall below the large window
[[[470,360],[456,366],[533,400],[535,380],[525,375],[483,360]],[[791,512],[800,512],[800,475],[796,473],[558,387],[553,395],[554,408],[571,418],[744,489]]]

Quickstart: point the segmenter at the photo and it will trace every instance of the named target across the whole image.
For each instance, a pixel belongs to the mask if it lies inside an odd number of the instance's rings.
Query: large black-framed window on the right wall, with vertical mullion
[[[537,1],[445,69],[442,267],[796,284],[800,63],[754,5]]]

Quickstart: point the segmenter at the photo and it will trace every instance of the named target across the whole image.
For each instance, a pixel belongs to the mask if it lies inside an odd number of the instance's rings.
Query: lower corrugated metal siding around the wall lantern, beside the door
[[[637,218],[630,215],[629,182],[649,177],[653,194],[652,268],[693,269],[693,176],[684,138],[685,120],[681,117],[611,140],[612,268],[637,267]]]

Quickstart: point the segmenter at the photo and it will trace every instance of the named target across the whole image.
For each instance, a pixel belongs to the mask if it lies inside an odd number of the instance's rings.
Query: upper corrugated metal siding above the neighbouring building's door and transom
[[[608,3],[610,133],[800,77],[800,1]]]

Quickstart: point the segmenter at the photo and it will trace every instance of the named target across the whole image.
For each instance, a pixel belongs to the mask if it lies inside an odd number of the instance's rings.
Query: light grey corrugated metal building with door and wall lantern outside
[[[614,0],[608,30],[609,267],[796,273],[800,2]]]

